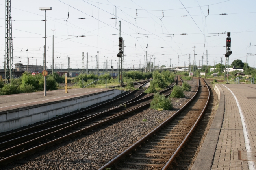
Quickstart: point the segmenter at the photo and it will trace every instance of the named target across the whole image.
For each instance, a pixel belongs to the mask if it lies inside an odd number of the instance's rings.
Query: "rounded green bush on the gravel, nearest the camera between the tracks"
[[[156,110],[171,110],[173,106],[169,98],[166,98],[164,95],[160,95],[159,93],[155,93],[152,102],[150,102],[150,108]]]

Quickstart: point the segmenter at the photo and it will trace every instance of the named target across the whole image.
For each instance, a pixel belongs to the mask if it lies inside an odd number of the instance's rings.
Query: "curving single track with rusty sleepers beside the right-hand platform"
[[[200,121],[209,98],[208,86],[198,79],[197,92],[187,104],[99,170],[169,169]]]

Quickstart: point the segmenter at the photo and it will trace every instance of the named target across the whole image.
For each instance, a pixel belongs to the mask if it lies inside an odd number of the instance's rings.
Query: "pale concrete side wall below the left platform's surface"
[[[0,112],[0,132],[6,132],[30,124],[45,121],[65,113],[80,110],[120,95],[124,91],[112,89],[90,95],[63,99],[34,106]]]

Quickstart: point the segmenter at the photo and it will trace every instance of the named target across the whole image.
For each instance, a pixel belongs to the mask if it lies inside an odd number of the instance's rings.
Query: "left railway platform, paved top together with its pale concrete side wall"
[[[0,132],[58,117],[112,99],[124,91],[80,88],[0,96]]]

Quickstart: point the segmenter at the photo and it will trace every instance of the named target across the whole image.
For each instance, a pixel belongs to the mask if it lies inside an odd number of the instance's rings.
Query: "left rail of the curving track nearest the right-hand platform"
[[[177,77],[178,78],[178,77]],[[176,81],[177,82],[177,81]],[[171,121],[174,117],[176,117],[176,115],[178,115],[182,110],[184,110],[184,108],[187,107],[188,104],[191,103],[191,101],[193,101],[196,97],[196,95],[198,94],[198,90],[199,90],[199,79],[198,79],[198,86],[197,86],[197,91],[195,93],[195,95],[184,105],[182,106],[182,108],[180,108],[177,112],[175,112],[171,117],[169,117],[167,120],[165,120],[164,122],[162,122],[158,127],[156,127],[154,130],[152,130],[151,132],[149,132],[147,135],[145,135],[144,137],[142,137],[139,141],[137,141],[136,143],[134,143],[132,146],[130,146],[128,149],[124,150],[124,152],[122,152],[121,154],[117,155],[117,157],[113,158],[111,161],[109,161],[107,164],[105,164],[104,166],[102,166],[101,168],[99,168],[98,170],[105,170],[106,168],[110,168],[111,166],[113,166],[115,163],[117,163],[118,161],[120,161],[122,158],[124,158],[126,155],[130,154],[133,150],[136,150],[139,146],[141,146],[141,144],[143,144],[145,141],[147,141],[147,139],[149,139],[150,137],[152,137],[154,134],[156,134],[161,128],[163,128],[163,126],[165,126],[169,121]]]

